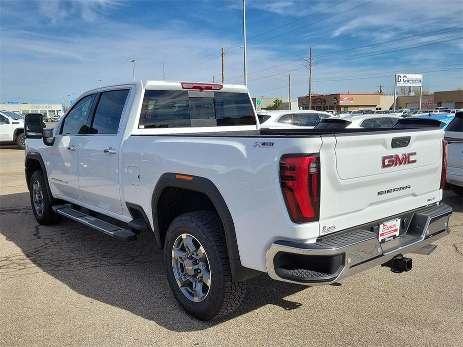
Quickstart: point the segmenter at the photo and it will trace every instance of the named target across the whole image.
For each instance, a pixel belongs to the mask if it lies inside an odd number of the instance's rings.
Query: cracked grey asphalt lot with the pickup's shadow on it
[[[125,243],[71,220],[38,225],[23,157],[0,145],[4,346],[461,345],[463,208],[450,190],[452,232],[431,255],[412,254],[411,271],[376,267],[314,287],[263,274],[236,312],[201,322],[172,296],[151,234]]]

